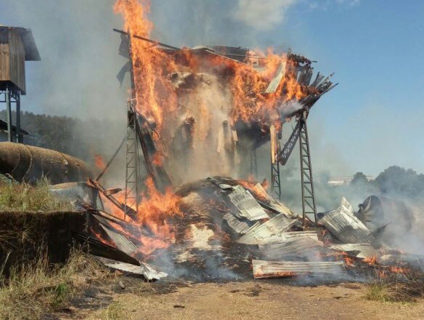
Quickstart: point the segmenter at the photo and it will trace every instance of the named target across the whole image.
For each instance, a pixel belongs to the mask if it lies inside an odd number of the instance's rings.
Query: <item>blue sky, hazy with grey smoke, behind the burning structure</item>
[[[113,0],[1,0],[0,24],[32,28],[41,62],[27,63],[23,109],[123,116],[115,75]],[[340,84],[313,108],[316,170],[424,172],[424,1],[153,0],[154,36],[174,45],[291,47]],[[34,4],[36,3],[36,4]],[[105,111],[106,110],[106,111]],[[290,129],[287,126],[286,129]]]

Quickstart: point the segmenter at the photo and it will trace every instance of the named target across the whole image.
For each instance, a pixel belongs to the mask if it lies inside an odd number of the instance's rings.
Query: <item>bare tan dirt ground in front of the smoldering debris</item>
[[[124,289],[122,289],[124,287]],[[50,319],[110,320],[415,320],[424,319],[424,301],[382,303],[365,297],[356,283],[293,286],[286,281],[156,283],[117,278],[91,290],[74,307]]]

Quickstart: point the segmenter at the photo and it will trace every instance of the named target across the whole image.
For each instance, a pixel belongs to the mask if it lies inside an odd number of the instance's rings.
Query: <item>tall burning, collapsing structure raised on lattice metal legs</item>
[[[181,49],[115,31],[121,33],[120,53],[130,58],[118,78],[122,83],[130,72],[129,115],[135,115],[128,122],[133,133],[127,137],[132,148],[127,147],[126,190],[139,190],[134,177],[140,173],[132,156],[137,154],[137,136],[146,171],[162,191],[171,181],[181,184],[204,172],[255,176],[256,149],[270,141],[271,188],[281,199],[279,165],[300,139],[303,215],[316,214],[306,120],[315,102],[336,85],[330,76],[318,72],[313,78],[313,61],[291,52]],[[297,124],[282,146],[283,124],[291,118]],[[128,195],[126,199],[137,203]]]

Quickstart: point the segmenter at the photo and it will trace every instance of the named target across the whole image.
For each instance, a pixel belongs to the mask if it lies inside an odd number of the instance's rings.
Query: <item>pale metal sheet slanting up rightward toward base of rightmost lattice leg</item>
[[[297,219],[287,218],[283,214],[276,215],[265,223],[250,228],[244,236],[238,239],[238,242],[248,245],[267,243],[269,242],[269,238],[287,231],[297,221]]]

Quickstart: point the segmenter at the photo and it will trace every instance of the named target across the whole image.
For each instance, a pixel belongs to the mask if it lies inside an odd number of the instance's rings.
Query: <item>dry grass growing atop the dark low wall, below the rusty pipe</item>
[[[0,210],[69,211],[72,206],[51,193],[48,180],[41,179],[35,186],[0,182]]]

